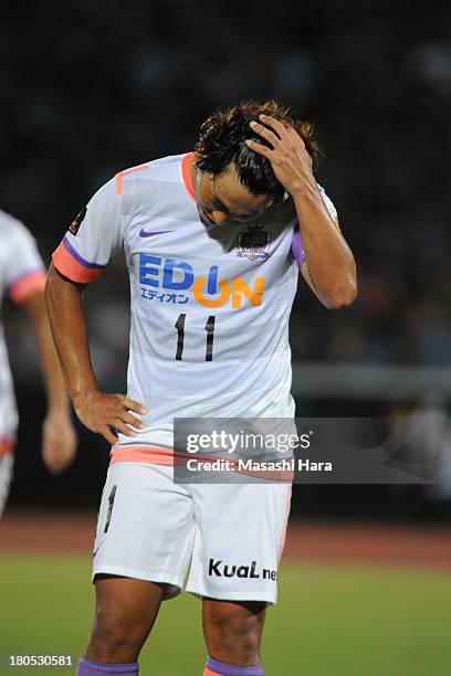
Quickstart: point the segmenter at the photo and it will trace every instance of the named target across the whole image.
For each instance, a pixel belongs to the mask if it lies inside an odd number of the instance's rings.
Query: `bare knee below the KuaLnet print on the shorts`
[[[203,599],[202,623],[208,648],[204,676],[260,676],[260,644],[266,603]]]

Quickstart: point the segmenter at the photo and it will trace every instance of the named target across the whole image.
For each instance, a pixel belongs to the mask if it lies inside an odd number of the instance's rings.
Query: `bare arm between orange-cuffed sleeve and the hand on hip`
[[[52,265],[45,285],[45,302],[61,367],[75,404],[80,398],[97,389],[91,363],[82,292],[75,284],[61,277]]]

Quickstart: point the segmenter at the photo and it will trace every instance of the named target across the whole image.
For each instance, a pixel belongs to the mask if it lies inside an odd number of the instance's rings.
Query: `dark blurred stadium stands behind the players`
[[[411,410],[451,363],[450,25],[450,6],[409,0],[6,4],[0,205],[32,230],[49,263],[73,216],[118,170],[192,149],[218,106],[279,98],[316,125],[318,181],[359,271],[358,300],[338,313],[300,287],[291,324],[298,413]],[[127,286],[117,261],[86,294],[93,359],[108,390],[125,385]],[[15,308],[7,306],[6,321],[21,414],[10,505],[94,507],[106,443],[80,429],[74,466],[46,474],[33,335]],[[318,363],[347,365],[364,391],[340,392],[333,369],[333,394],[303,389],[302,366]],[[390,368],[399,366],[406,390],[424,369],[424,388],[394,398]],[[386,390],[373,392],[378,372]],[[444,520],[450,486],[298,486],[294,511]]]

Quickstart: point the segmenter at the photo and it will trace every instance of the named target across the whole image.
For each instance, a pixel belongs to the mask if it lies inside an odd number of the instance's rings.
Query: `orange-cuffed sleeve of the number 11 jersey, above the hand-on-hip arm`
[[[102,274],[122,243],[120,194],[112,179],[71,223],[52,255],[53,264],[72,282],[88,284]]]

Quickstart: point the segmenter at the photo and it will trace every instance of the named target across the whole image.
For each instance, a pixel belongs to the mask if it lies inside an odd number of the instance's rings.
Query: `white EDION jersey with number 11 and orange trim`
[[[245,223],[206,226],[191,159],[167,157],[118,173],[53,254],[64,276],[88,283],[124,247],[132,309],[127,394],[148,411],[138,437],[119,435],[118,451],[129,453],[124,460],[138,460],[140,450],[149,457],[153,448],[155,462],[164,462],[174,418],[294,414],[293,203],[273,204]]]

